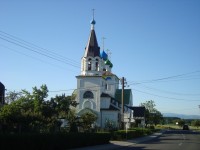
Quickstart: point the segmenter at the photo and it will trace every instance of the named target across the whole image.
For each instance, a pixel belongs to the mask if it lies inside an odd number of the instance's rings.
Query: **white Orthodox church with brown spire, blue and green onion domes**
[[[76,76],[77,89],[72,95],[78,103],[78,115],[90,112],[98,118],[95,126],[105,128],[111,123],[112,127],[119,128],[121,123],[129,125],[133,121],[130,109],[133,105],[132,91],[123,89],[122,98],[122,89],[119,89],[121,79],[112,73],[113,64],[108,54],[100,50],[95,23],[93,17],[89,39],[81,59],[81,74]]]

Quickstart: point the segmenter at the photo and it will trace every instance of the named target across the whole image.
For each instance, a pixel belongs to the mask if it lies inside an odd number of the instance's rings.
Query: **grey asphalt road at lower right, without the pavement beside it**
[[[134,150],[200,150],[200,132],[169,130],[149,141],[117,149]]]

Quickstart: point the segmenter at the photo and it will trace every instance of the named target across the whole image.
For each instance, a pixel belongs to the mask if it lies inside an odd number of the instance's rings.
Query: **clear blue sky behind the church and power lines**
[[[199,0],[0,0],[0,82],[7,91],[46,84],[49,95],[76,88],[92,9],[112,72],[138,106],[199,115]]]

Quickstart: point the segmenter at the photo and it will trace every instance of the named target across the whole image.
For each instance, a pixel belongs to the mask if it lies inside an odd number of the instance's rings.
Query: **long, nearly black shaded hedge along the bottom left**
[[[110,133],[0,135],[0,149],[66,150],[109,143]]]

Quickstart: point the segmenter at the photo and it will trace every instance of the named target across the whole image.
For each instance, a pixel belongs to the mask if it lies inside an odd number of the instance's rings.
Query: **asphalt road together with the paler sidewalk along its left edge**
[[[77,150],[200,150],[200,132],[168,130],[151,136]]]

